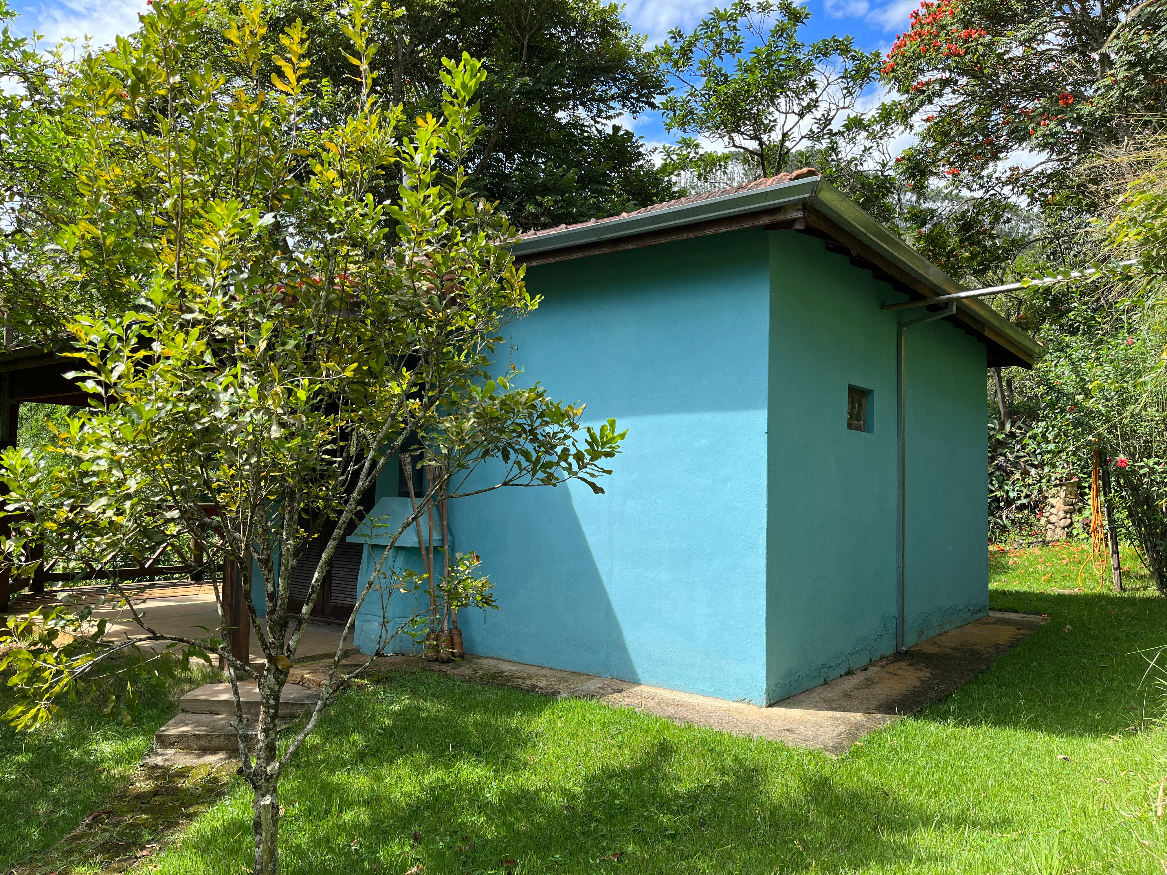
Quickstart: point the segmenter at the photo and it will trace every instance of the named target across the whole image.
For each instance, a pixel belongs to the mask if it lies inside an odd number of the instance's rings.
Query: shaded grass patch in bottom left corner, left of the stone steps
[[[132,727],[102,716],[98,698],[65,702],[60,719],[32,733],[0,722],[0,872],[43,852],[121,789],[191,682],[139,687],[142,712]],[[12,701],[0,684],[0,714]]]

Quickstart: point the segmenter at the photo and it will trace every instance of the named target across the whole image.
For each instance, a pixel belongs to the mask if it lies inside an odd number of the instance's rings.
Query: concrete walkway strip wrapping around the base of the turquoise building
[[[838,756],[862,736],[949,695],[1016,646],[1044,618],[990,611],[988,616],[872,663],[768,708],[576,672],[467,656],[445,665],[417,657],[378,659],[378,671],[433,671],[543,695],[595,699],[605,705],[707,727],[735,735],[781,741]],[[348,666],[362,662],[350,657]],[[293,680],[315,686],[323,666],[300,666]]]

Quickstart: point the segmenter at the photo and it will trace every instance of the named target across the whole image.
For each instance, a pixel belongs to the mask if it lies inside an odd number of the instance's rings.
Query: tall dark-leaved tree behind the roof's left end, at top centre
[[[396,5],[394,5],[396,6]],[[282,0],[273,27],[300,19],[317,35],[313,71],[338,107],[352,80],[337,0]],[[386,92],[411,116],[438,112],[441,58],[462,51],[488,71],[471,186],[520,229],[634,210],[673,194],[643,140],[620,124],[655,107],[663,76],[644,36],[601,0],[408,0],[372,14]],[[340,110],[338,110],[340,111]]]

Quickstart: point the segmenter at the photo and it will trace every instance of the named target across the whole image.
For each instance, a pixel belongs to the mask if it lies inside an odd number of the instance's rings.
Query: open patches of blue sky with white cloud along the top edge
[[[673,27],[692,27],[715,5],[715,0],[629,0],[624,18],[657,42]],[[896,34],[907,29],[908,13],[917,5],[918,0],[808,0],[812,15],[803,38],[851,34],[861,48],[887,51]],[[21,13],[15,29],[22,34],[35,28],[53,41],[89,34],[109,42],[114,34],[133,29],[146,0],[15,0],[14,6]],[[626,119],[626,124],[651,144],[672,140],[655,116]]]

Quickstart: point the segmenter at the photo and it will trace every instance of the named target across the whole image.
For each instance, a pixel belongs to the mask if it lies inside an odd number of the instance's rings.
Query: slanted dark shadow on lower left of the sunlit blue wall
[[[466,548],[482,554],[498,601],[498,610],[460,615],[466,649],[640,682],[572,490],[502,489],[452,508],[450,524]]]

